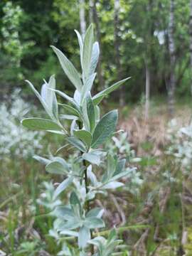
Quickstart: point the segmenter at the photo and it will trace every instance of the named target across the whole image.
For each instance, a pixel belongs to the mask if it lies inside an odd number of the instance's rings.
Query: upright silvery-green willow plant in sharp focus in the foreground
[[[92,24],[87,28],[83,38],[78,31],[75,33],[80,46],[81,75],[58,48],[51,46],[65,75],[75,87],[73,97],[55,89],[54,75],[48,82],[44,80],[41,94],[31,82],[26,81],[40,100],[49,118],[31,117],[21,122],[28,129],[63,135],[66,142],[63,147],[72,146],[74,150],[79,151],[73,164],[60,156],[52,156],[50,159],[36,156],[36,159],[46,164],[48,173],[64,177],[64,180],[55,188],[55,198],[67,187],[71,191],[67,205],[56,206],[53,210],[53,214],[59,220],[58,233],[64,237],[72,236],[74,246],[75,240],[77,241],[81,256],[107,256],[112,255],[120,240],[116,240],[115,229],[111,232],[107,231],[108,238],[100,235],[105,228],[105,222],[102,220],[104,210],[94,207],[95,197],[97,193],[106,195],[108,190],[123,186],[124,183],[117,180],[127,176],[129,169],[125,169],[125,159],[119,159],[117,155],[112,156],[102,149],[102,144],[115,132],[118,112],[112,110],[100,117],[99,105],[106,95],[116,90],[129,78],[92,95],[100,48],[98,43],[94,42]],[[56,94],[60,95],[65,103],[58,103]],[[64,114],[59,114],[60,108],[63,109]],[[67,119],[70,120],[70,127],[65,124]],[[98,172],[100,166],[105,169],[102,175]],[[100,228],[102,228],[102,233],[98,233]],[[105,231],[104,233],[106,234]]]

